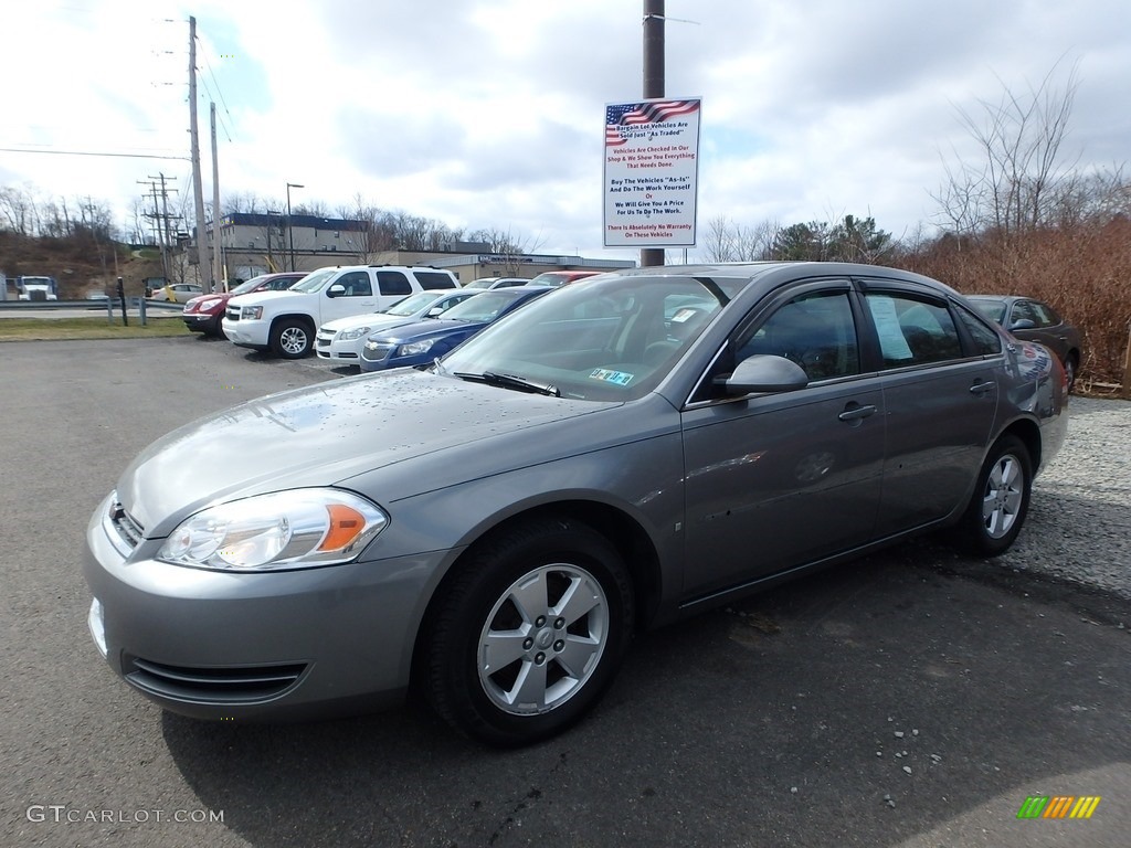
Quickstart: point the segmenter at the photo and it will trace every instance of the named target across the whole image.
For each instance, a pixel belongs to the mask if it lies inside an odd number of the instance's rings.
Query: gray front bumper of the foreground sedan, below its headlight
[[[107,516],[87,527],[92,635],[111,668],[162,707],[205,719],[279,720],[404,698],[423,598],[442,552],[276,573],[128,557]]]

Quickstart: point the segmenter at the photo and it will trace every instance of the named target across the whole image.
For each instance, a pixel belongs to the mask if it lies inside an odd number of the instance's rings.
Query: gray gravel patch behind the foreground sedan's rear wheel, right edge
[[[1068,439],[1037,476],[1027,526],[994,562],[1131,600],[1131,401],[1072,397]]]

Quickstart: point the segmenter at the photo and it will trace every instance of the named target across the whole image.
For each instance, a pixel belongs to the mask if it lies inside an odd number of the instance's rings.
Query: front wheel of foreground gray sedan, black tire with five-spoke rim
[[[633,625],[616,550],[569,518],[489,540],[439,599],[426,694],[472,738],[528,745],[570,727],[612,683]]]

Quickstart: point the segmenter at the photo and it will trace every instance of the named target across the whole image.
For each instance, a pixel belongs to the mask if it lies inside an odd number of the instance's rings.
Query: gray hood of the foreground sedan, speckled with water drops
[[[334,485],[470,442],[485,450],[493,436],[613,406],[412,369],[362,374],[251,400],[173,431],[126,469],[118,497],[146,537],[162,538],[211,503]]]

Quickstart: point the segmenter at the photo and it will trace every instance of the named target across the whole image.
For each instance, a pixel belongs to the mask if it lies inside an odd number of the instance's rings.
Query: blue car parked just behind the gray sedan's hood
[[[383,371],[406,365],[428,365],[487,325],[552,291],[554,289],[541,286],[493,288],[452,306],[443,313],[443,318],[431,318],[374,332],[362,345],[361,370]]]

